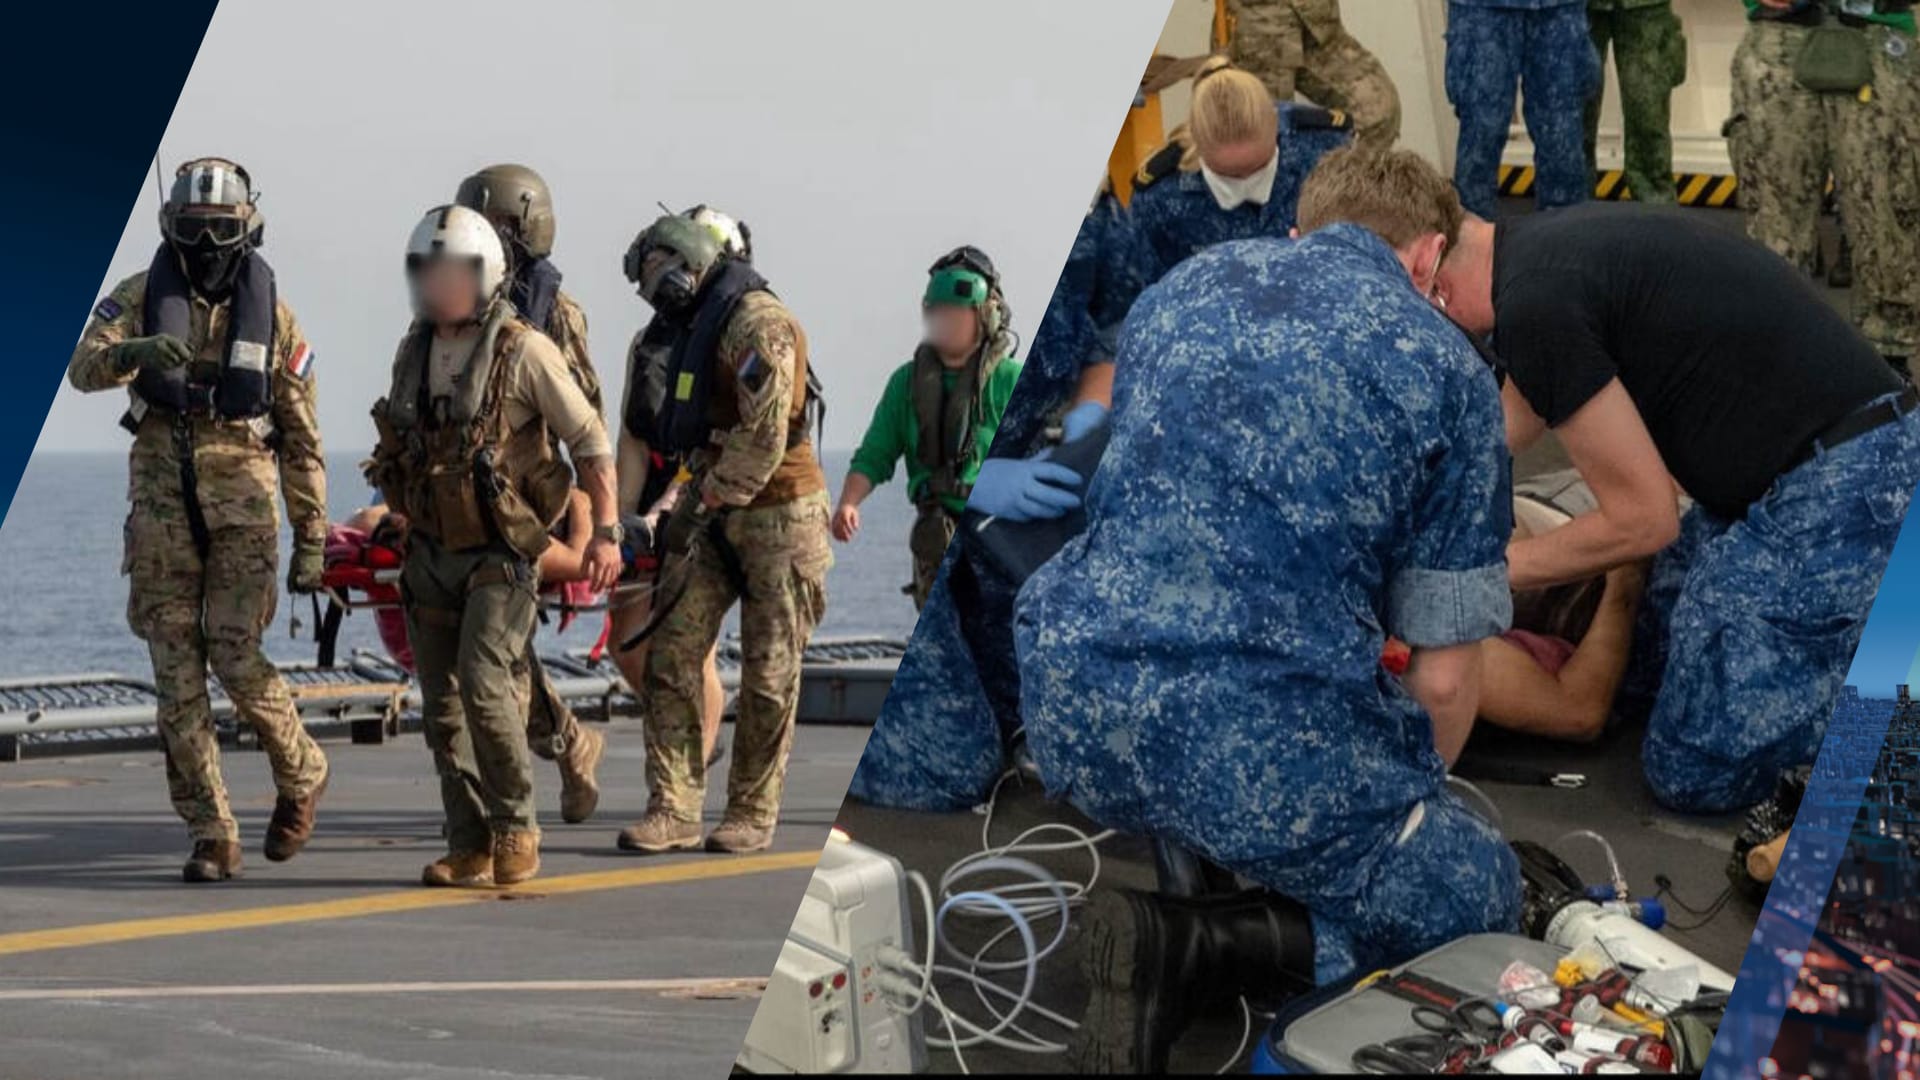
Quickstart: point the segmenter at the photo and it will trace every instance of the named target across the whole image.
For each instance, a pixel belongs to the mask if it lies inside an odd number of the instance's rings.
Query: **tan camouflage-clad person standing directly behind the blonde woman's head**
[[[1252,71],[1281,102],[1300,90],[1346,111],[1361,146],[1400,138],[1400,90],[1367,46],[1340,23],[1340,0],[1229,0],[1233,63]]]

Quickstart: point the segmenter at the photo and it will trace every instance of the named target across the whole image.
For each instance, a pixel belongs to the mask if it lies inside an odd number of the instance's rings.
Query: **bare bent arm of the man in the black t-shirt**
[[[1626,388],[1615,379],[1559,429],[1599,509],[1507,546],[1513,588],[1544,588],[1644,559],[1680,534],[1674,482]]]

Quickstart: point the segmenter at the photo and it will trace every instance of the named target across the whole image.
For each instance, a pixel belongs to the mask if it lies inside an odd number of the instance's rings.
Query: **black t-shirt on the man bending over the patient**
[[[1805,273],[1672,208],[1501,221],[1494,352],[1549,427],[1619,379],[1680,486],[1732,519],[1814,434],[1901,388]]]

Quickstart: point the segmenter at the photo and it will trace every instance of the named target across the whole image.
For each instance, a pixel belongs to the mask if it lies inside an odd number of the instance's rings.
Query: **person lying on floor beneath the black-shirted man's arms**
[[[1567,521],[1571,515],[1548,502],[1513,498],[1515,540]],[[1478,717],[1521,734],[1599,738],[1626,675],[1645,580],[1647,563],[1640,561],[1580,582],[1515,592],[1513,628],[1480,642]],[[1388,667],[1404,653],[1405,646],[1388,642]]]

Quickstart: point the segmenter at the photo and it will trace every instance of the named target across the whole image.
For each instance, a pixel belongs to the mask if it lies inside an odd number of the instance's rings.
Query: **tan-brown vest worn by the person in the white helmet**
[[[540,417],[507,427],[505,388],[524,334],[538,332],[495,304],[453,394],[430,400],[432,327],[415,323],[394,357],[394,386],[374,402],[380,432],[367,479],[392,511],[449,552],[505,544],[534,561],[566,511],[574,471]]]

